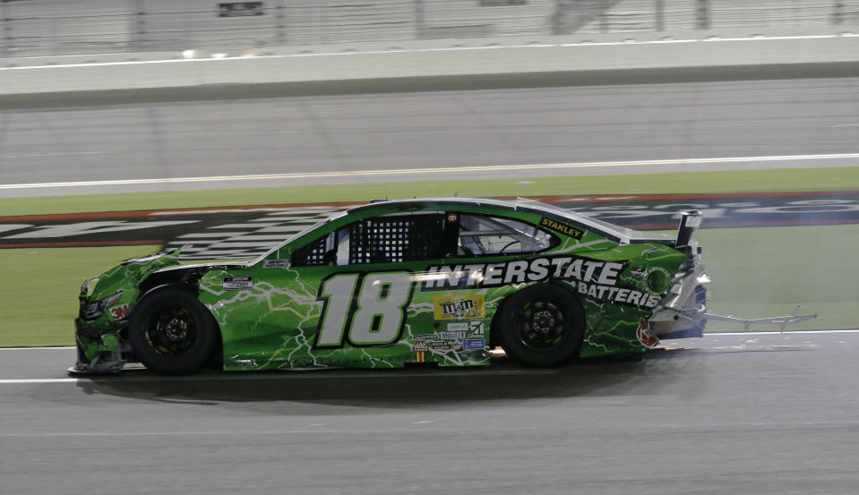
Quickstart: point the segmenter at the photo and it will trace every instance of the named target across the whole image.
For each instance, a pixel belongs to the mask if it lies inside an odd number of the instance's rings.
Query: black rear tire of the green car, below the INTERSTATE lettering
[[[579,301],[562,287],[529,286],[504,301],[496,320],[499,342],[511,358],[531,366],[557,366],[576,354],[585,333]]]

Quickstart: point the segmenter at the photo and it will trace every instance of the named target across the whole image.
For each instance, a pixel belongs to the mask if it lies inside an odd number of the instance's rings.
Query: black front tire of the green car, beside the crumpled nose
[[[151,371],[187,375],[202,371],[218,348],[218,324],[196,294],[164,287],[143,296],[128,322],[134,355]]]

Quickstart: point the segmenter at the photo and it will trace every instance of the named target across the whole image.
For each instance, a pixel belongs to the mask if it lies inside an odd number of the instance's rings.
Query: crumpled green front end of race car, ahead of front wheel
[[[179,250],[127,260],[83,282],[78,318],[74,320],[78,359],[70,371],[116,372],[133,361],[124,337],[128,317],[150,274],[179,264]]]

